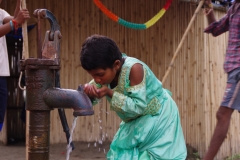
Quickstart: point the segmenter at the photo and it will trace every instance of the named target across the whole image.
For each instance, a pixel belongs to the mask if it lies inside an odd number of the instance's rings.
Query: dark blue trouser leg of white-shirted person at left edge
[[[4,115],[7,107],[7,78],[0,77],[0,131],[2,130]]]

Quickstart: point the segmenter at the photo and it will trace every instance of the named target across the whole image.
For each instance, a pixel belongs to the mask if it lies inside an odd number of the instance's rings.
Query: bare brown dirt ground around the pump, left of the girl
[[[75,149],[70,153],[69,160],[106,160],[109,143],[94,147],[94,143],[74,142]],[[88,147],[89,146],[89,147]],[[66,160],[67,144],[50,146],[50,160]],[[105,153],[104,153],[105,149]],[[100,150],[100,151],[99,151]],[[25,142],[16,142],[7,146],[0,145],[0,160],[25,160]]]

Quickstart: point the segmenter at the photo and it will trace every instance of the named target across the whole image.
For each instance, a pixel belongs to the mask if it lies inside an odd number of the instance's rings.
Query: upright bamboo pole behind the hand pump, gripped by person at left
[[[21,8],[26,9],[26,0],[21,0]],[[27,21],[22,24],[22,36],[23,36],[23,52],[22,59],[29,58],[28,53],[28,35],[27,35]],[[29,126],[29,112],[26,111],[26,159],[28,159],[28,126]]]

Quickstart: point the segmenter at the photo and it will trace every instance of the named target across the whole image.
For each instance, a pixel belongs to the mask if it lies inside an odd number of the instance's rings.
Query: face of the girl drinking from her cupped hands
[[[121,68],[121,62],[116,60],[112,68],[98,68],[87,71],[98,84],[105,85],[110,84],[116,77],[119,69]]]

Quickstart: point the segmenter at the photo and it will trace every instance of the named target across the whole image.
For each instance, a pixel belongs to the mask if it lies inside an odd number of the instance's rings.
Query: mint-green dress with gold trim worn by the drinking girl
[[[118,85],[108,98],[111,110],[122,119],[108,160],[185,160],[186,144],[179,112],[171,93],[162,88],[149,67],[140,60],[125,57]],[[143,65],[143,81],[130,86],[131,67]]]

